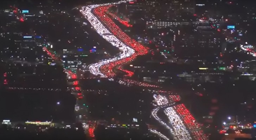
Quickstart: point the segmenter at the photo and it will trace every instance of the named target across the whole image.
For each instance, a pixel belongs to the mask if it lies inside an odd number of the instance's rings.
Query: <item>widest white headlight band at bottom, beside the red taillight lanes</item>
[[[177,140],[192,140],[192,137],[180,116],[175,112],[172,107],[168,107],[164,110],[166,116],[168,117],[172,127],[173,127],[173,137]]]

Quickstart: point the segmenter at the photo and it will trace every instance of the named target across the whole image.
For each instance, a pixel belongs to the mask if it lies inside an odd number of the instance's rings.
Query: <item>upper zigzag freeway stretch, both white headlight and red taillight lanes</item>
[[[121,51],[120,55],[117,57],[105,59],[90,65],[89,71],[94,75],[100,75],[101,77],[114,77],[115,72],[113,69],[117,65],[130,62],[139,55],[147,54],[146,47],[143,47],[141,44],[126,35],[107,15],[108,8],[110,7],[109,5],[121,2],[126,1],[91,5],[82,7],[80,10],[97,33],[113,46],[118,47]]]

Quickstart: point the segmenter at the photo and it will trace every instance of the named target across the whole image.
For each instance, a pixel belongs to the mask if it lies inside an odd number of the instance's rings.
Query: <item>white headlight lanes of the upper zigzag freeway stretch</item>
[[[113,3],[105,3],[101,5],[91,5],[91,6],[86,6],[82,7],[80,12],[85,16],[85,18],[91,23],[91,26],[97,31],[98,34],[100,34],[105,40],[107,40],[109,43],[111,43],[113,46],[118,47],[121,51],[120,55],[111,58],[111,59],[105,59],[102,60],[98,63],[92,64],[89,66],[89,71],[93,75],[100,75],[101,77],[107,77],[100,71],[100,67],[108,64],[110,62],[114,62],[126,57],[131,56],[134,54],[134,49],[128,47],[124,43],[122,43],[119,39],[117,39],[114,35],[110,33],[110,31],[97,19],[97,17],[93,14],[92,9],[99,7],[99,6],[106,6],[106,5],[115,5],[127,1],[132,1],[132,0],[126,0],[126,1],[119,1],[119,2],[113,2]]]

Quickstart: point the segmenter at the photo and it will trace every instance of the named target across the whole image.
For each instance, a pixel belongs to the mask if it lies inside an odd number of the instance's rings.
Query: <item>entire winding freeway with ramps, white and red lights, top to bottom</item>
[[[100,75],[102,78],[114,77],[114,68],[119,68],[122,70],[120,67],[122,64],[133,61],[137,56],[145,55],[148,52],[146,47],[142,46],[140,43],[126,35],[109,17],[110,15],[112,18],[117,18],[117,16],[109,13],[108,9],[111,6],[122,2],[127,1],[84,6],[80,10],[80,12],[91,23],[92,28],[94,28],[98,34],[100,34],[114,47],[118,47],[120,49],[120,54],[118,56],[110,59],[104,59],[89,66],[89,71],[92,74]],[[119,21],[122,22],[120,19]],[[128,73],[128,76],[133,74],[132,72],[128,71],[124,72]],[[139,85],[158,88],[158,86],[155,85],[145,84],[130,79],[120,79],[119,83],[127,86]],[[180,97],[178,95],[171,95],[168,99],[162,94],[166,94],[166,92],[160,91],[153,96],[156,102],[156,108],[152,111],[152,116],[170,131],[173,139],[207,140],[208,137],[203,134],[200,124],[196,122],[191,113],[183,104],[179,104]],[[157,112],[160,109],[164,109],[164,113],[168,118],[168,123],[165,123],[160,117],[157,116]],[[169,139],[157,130],[149,129],[149,131],[158,135],[160,138],[166,140]]]

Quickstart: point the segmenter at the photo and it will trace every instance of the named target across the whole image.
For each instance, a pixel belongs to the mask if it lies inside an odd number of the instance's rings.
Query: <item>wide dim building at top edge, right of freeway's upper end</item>
[[[184,21],[182,19],[189,17],[187,13],[194,13],[194,0],[139,0],[127,2],[125,9],[129,14],[140,13],[143,15],[140,18],[146,21]],[[181,18],[180,15],[185,16]]]

